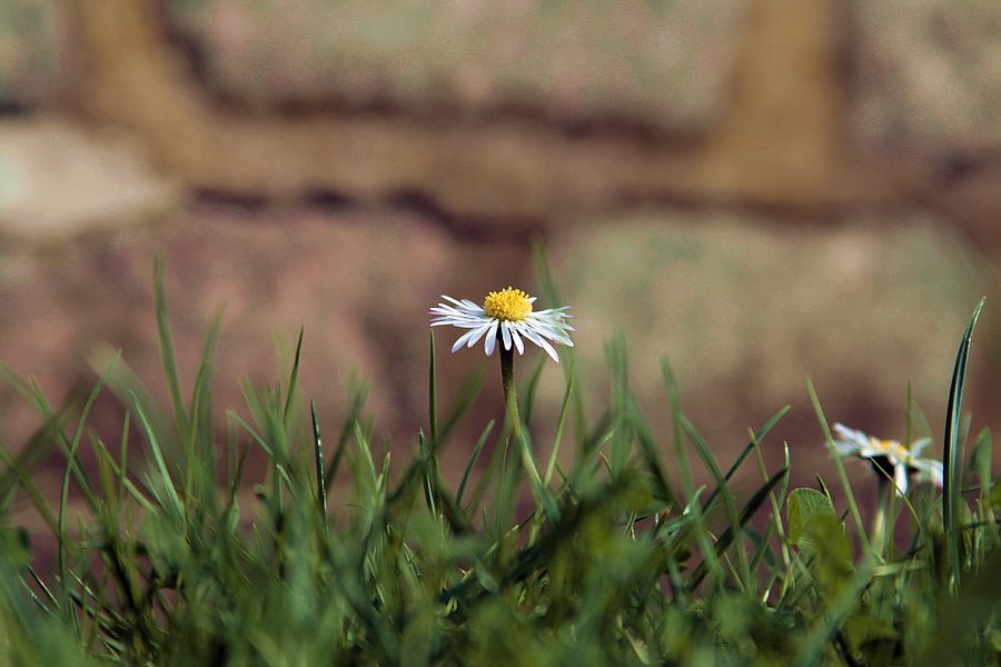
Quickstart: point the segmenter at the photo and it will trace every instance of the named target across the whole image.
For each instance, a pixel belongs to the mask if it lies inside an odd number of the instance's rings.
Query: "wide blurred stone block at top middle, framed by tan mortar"
[[[747,0],[167,2],[208,83],[255,107],[531,109],[703,131],[730,94]]]

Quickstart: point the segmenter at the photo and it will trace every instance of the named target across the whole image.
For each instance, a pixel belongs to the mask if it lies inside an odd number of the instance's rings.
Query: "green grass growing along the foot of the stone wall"
[[[555,297],[539,260],[543,290]],[[440,405],[432,338],[428,424],[415,425],[418,445],[402,465],[373,446],[364,386],[351,389],[337,437],[321,436],[330,417],[297,389],[308,362],[301,334],[284,384],[245,386],[246,406],[220,419],[211,409],[218,321],[186,391],[161,275],[158,266],[166,409],[115,356],[90,391],[60,407],[0,367],[43,420],[19,454],[0,442],[2,665],[1001,660],[1001,489],[990,434],[965,467],[959,419],[980,306],[949,391],[945,487],[894,499],[889,520],[910,542],[879,549],[836,457],[844,507],[820,480],[790,489],[787,447],[783,467],[765,466],[762,450],[781,446],[769,432],[787,408],[724,465],[684,416],[664,361],[674,426],[654,432],[630,391],[621,338],[607,347],[609,398],[597,419],[577,398],[567,354],[557,414],[534,405],[541,367],[528,367],[522,428],[489,422],[473,441],[455,427],[484,376],[474,370]],[[470,367],[483,364],[470,356]],[[87,426],[102,391],[126,411],[116,432]],[[910,399],[908,410],[910,431]],[[556,432],[545,448],[532,439],[539,422]],[[539,454],[571,444],[566,466]],[[444,447],[469,456],[455,487],[439,468]],[[85,448],[93,470],[80,464]],[[31,474],[52,451],[65,461],[54,507]],[[247,478],[251,456],[266,459],[265,478]],[[739,494],[730,485],[745,466],[761,481]],[[52,531],[51,571],[39,571],[13,524],[16,502],[33,505]]]

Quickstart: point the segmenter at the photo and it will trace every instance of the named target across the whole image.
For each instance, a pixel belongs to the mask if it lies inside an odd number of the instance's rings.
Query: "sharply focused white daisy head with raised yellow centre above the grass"
[[[430,309],[429,315],[435,316],[430,326],[452,325],[468,329],[452,346],[453,352],[464,345],[473,347],[483,338],[483,349],[487,356],[494,354],[498,339],[504,344],[505,350],[514,345],[518,354],[524,355],[523,338],[526,338],[558,362],[559,355],[549,340],[574,347],[568,332],[576,329],[566,323],[566,319],[573,317],[566,313],[568,306],[533,311],[535,297],[513,287],[488,293],[482,308],[469,299],[458,300],[445,295],[442,298],[448,303],[438,303],[437,308]]]

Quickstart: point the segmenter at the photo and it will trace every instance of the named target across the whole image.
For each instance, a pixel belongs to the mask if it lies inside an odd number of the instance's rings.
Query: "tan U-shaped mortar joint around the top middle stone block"
[[[567,133],[532,113],[435,119],[406,108],[306,107],[276,118],[219,106],[165,40],[155,7],[76,0],[79,102],[92,118],[136,131],[195,188],[279,200],[326,191],[366,202],[416,193],[456,223],[516,230],[644,200],[812,211],[899,196],[898,171],[842,153],[831,33],[839,13],[829,0],[805,8],[755,0],[733,104],[718,131],[698,140],[615,123]]]

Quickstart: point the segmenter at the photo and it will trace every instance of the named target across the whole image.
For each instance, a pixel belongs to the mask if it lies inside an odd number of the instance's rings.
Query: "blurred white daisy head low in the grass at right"
[[[835,424],[834,432],[839,438],[834,440],[834,448],[839,455],[868,459],[878,470],[892,474],[896,491],[901,495],[908,492],[908,478],[911,472],[918,472],[921,481],[942,486],[942,461],[918,457],[931,442],[931,438],[915,440],[908,448],[896,440],[880,440],[843,424]]]

